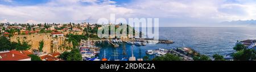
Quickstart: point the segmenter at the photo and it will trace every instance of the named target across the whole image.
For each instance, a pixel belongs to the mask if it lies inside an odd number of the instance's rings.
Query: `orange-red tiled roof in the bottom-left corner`
[[[31,58],[21,51],[11,50],[0,52],[0,61],[31,61]]]

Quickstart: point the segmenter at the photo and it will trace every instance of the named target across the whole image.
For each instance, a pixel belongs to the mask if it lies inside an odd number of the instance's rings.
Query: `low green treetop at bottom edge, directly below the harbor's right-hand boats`
[[[175,56],[174,54],[166,54],[166,56],[161,56],[161,57],[155,57],[153,58],[153,61],[180,61],[179,56]]]

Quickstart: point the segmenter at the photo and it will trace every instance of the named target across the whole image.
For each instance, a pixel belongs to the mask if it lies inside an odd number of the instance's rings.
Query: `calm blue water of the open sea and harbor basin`
[[[237,28],[237,27],[161,27],[159,28],[160,39],[170,39],[175,41],[174,44],[156,44],[146,46],[134,45],[134,56],[136,58],[142,58],[146,56],[146,50],[148,49],[170,49],[179,48],[183,46],[195,49],[201,54],[225,55],[234,52],[233,46],[237,40],[256,39],[256,28]],[[104,55],[106,50],[106,58],[111,58],[114,54],[115,48],[112,45],[105,45],[101,48],[99,58]],[[121,60],[123,49],[122,45],[117,48],[118,58]],[[127,56],[131,56],[131,45],[126,44]],[[150,56],[150,57],[154,57]]]

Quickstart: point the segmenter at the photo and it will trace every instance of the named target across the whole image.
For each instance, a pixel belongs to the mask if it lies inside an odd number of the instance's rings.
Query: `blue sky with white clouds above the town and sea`
[[[0,0],[0,23],[97,23],[159,18],[160,26],[211,26],[256,19],[255,0]]]

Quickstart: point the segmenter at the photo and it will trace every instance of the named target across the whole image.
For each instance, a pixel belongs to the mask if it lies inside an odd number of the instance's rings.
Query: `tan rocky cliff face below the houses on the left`
[[[11,42],[18,43],[18,39],[22,41],[28,41],[31,45],[31,50],[39,49],[39,42],[44,41],[43,52],[53,53],[53,52],[64,52],[68,50],[68,46],[73,46],[72,43],[65,41],[66,37],[51,37],[50,33],[39,33],[31,35],[15,35],[11,37]]]

